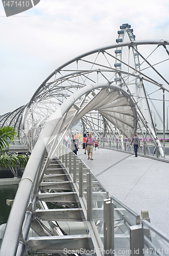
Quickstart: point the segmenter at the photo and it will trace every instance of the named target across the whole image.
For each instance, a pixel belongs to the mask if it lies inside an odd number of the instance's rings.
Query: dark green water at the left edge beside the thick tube
[[[0,225],[7,223],[11,206],[6,204],[6,200],[15,198],[17,188],[18,184],[0,186]]]

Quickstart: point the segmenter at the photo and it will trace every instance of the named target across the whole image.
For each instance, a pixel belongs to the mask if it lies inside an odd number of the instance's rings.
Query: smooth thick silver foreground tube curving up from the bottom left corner
[[[82,95],[86,95],[94,89],[98,88],[116,89],[121,91],[124,95],[126,95],[126,97],[128,96],[127,93],[119,86],[113,86],[111,85],[111,83],[108,82],[105,84],[94,84],[94,86],[89,85],[81,88],[72,96],[70,96],[67,100],[65,100],[60,108],[50,116],[49,120],[46,121],[45,127],[40,134],[40,138],[38,139],[34,147],[31,157],[25,167],[22,179],[19,183],[17,194],[15,196],[15,200],[4,233],[4,238],[0,251],[1,256],[14,256],[16,254],[25,211],[30,201],[31,193],[34,189],[34,184],[37,184],[37,180],[39,180],[41,175],[40,166],[42,166],[42,159],[46,152],[46,147],[51,137],[53,136],[57,125],[59,124],[60,120],[65,116],[65,114],[69,111],[70,107],[76,102],[76,100],[78,100]],[[133,115],[135,116],[133,127],[134,133],[137,125],[136,111],[134,110],[134,104],[132,102],[132,99],[130,99],[130,102],[133,106]],[[70,124],[71,123],[69,123],[69,126]],[[55,136],[57,137],[57,133],[55,133],[54,137]],[[60,143],[58,143],[58,145],[59,144]],[[9,241],[11,241],[10,247],[7,246]]]

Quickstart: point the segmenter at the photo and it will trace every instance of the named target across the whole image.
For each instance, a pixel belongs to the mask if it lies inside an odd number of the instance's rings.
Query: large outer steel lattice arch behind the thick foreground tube
[[[53,71],[51,75],[49,75],[37,89],[29,103],[20,107],[14,112],[1,116],[1,126],[10,124],[16,127],[19,137],[24,136],[26,138],[27,144],[31,150],[34,146],[34,140],[39,137],[40,131],[42,130],[45,121],[62,104],[65,99],[89,83],[94,84],[96,82],[108,81],[111,83],[119,84],[119,86],[121,86],[130,94],[130,97],[133,98],[135,104],[137,105],[138,116],[141,116],[139,117],[139,121],[141,120],[140,126],[144,127],[147,132],[151,133],[150,136],[155,138],[155,140],[153,138],[153,141],[156,144],[158,141],[156,141],[157,136],[154,129],[155,125],[153,127],[153,133],[151,129],[149,129],[151,125],[147,125],[147,121],[152,122],[151,111],[149,111],[150,120],[146,120],[144,118],[144,111],[140,109],[140,102],[147,100],[147,105],[149,100],[148,96],[145,95],[146,89],[143,90],[143,87],[146,88],[149,86],[149,84],[153,84],[157,87],[154,90],[159,88],[168,92],[168,82],[159,74],[158,71],[155,70],[154,65],[151,65],[148,60],[143,57],[143,54],[138,52],[137,46],[155,45],[157,48],[159,46],[166,48],[168,44],[169,43],[166,40],[131,40],[128,42],[120,42],[115,45],[98,48],[96,50],[82,54],[66,62],[64,65]],[[137,58],[139,56],[139,58],[143,59],[144,64],[146,63],[146,65],[148,65],[146,69],[153,69],[155,74],[158,74],[160,78],[159,81],[156,81],[151,76],[148,76],[147,73],[142,71],[141,67],[143,63],[140,66],[138,66],[138,63],[135,63],[135,61],[133,64],[130,64],[130,61],[128,61],[128,63],[127,61],[124,62],[122,56],[120,56],[118,59],[117,54],[113,55],[112,51],[114,49],[123,49],[126,47],[128,49],[132,49],[134,56]],[[117,67],[112,68],[113,63],[117,63],[117,60],[118,63],[122,63],[122,67],[126,67],[127,70],[123,68],[119,70]],[[145,70],[145,68],[143,70]],[[121,81],[114,80],[116,77],[120,77]],[[130,86],[131,81],[133,81],[135,85],[137,85],[139,81],[139,95],[137,93],[135,95],[133,94]],[[140,95],[144,95],[141,97],[142,99],[140,99]],[[88,100],[90,100],[90,98],[88,98]],[[95,116],[92,119],[92,114],[90,114],[90,117],[88,115],[88,117],[84,116],[81,119],[83,120],[83,123],[85,121],[86,131],[91,130],[94,132],[95,136],[100,136],[100,132],[102,135],[104,134],[104,136],[106,136],[106,134],[112,133],[111,129],[109,129],[109,121],[105,119],[106,117],[103,117],[99,111],[98,115],[101,116],[99,118]],[[98,121],[94,122],[94,118],[97,118]],[[104,123],[104,127],[101,124],[99,125],[100,118],[102,120],[101,122]],[[98,125],[97,129],[96,123]],[[100,131],[99,126],[101,126]],[[118,125],[116,128],[119,129]],[[105,129],[107,131],[106,133]],[[122,136],[120,135],[120,137]]]

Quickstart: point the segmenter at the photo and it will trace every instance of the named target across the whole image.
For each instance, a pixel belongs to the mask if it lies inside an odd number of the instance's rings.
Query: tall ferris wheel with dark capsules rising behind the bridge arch
[[[117,44],[119,42],[134,42],[135,35],[133,34],[133,29],[131,25],[123,24],[120,26],[118,31],[118,38],[116,39]],[[117,72],[115,81],[116,84],[122,84],[122,87],[130,92],[130,94],[135,97],[135,100],[138,101],[142,97],[142,83],[138,78],[134,78],[129,74],[136,74],[140,72],[140,62],[139,55],[137,53],[137,45],[130,46],[119,46],[115,50],[116,54],[116,63],[114,67],[117,71],[123,70],[126,74]],[[142,108],[142,101],[139,103],[139,108]]]

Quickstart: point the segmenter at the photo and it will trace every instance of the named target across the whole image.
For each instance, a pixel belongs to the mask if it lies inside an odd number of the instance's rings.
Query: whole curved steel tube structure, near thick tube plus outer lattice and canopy
[[[10,213],[1,246],[1,256],[16,255],[26,209],[30,203],[34,203],[45,170],[74,122],[81,120],[83,129],[92,131],[96,137],[101,134],[104,137],[116,137],[117,129],[121,140],[123,136],[130,139],[139,129],[144,138],[145,133],[148,133],[154,144],[160,146],[146,86],[151,84],[151,93],[161,90],[164,102],[164,92],[169,92],[169,83],[155,69],[155,64],[150,64],[148,59],[138,52],[136,46],[143,45],[154,45],[156,49],[161,46],[169,55],[166,49],[169,42],[166,40],[131,40],[98,48],[54,70],[26,105],[0,116],[1,126],[10,124],[16,127],[19,136],[25,136],[30,150],[33,150]],[[129,60],[125,62],[122,57],[118,59],[113,51],[124,47],[131,48],[133,54],[137,54],[137,58],[139,56],[143,62],[136,67],[135,62],[132,65]],[[127,67],[127,70],[113,68],[114,62],[117,61]],[[146,66],[142,68],[142,65]],[[152,74],[149,76],[144,72],[147,69],[151,69],[158,78],[154,79]],[[115,80],[117,77],[121,80]],[[135,84],[139,81],[139,90],[143,91],[142,94],[133,95],[131,81]],[[140,95],[144,97],[140,99]],[[147,105],[152,127],[140,109],[140,100],[145,101]],[[35,138],[38,140],[34,147]],[[49,144],[50,150],[43,166]],[[164,156],[161,147],[159,151],[161,156]],[[29,223],[31,225],[31,221]],[[8,241],[10,247],[7,246]]]

